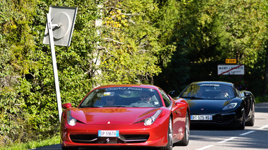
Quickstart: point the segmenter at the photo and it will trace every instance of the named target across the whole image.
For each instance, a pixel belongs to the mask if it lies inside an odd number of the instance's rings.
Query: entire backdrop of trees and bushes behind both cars
[[[199,80],[233,82],[258,103],[268,101],[266,0],[4,0],[0,6],[0,149],[59,143],[51,51],[42,44],[49,6],[78,7],[71,46],[55,46],[62,104],[76,106],[99,85],[180,92]],[[225,58],[245,64],[245,75],[218,75]]]

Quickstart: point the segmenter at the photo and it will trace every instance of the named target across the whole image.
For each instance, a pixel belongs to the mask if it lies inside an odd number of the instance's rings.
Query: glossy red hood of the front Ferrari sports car
[[[132,124],[151,117],[159,108],[71,108],[71,116],[86,124]]]

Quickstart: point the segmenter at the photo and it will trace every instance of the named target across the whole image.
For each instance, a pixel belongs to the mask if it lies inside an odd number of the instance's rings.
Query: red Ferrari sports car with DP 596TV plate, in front
[[[153,85],[107,85],[93,89],[77,108],[63,104],[62,149],[88,146],[186,146],[190,109]]]

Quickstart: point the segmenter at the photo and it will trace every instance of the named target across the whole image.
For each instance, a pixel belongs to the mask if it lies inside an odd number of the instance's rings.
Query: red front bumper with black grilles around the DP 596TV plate
[[[63,123],[64,124],[64,123]],[[61,126],[62,146],[165,146],[168,143],[168,123],[144,126],[86,125]],[[98,137],[98,130],[119,130],[119,137]]]

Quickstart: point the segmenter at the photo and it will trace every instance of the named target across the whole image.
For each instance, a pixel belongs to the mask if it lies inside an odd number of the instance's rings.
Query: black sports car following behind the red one
[[[255,122],[255,98],[231,82],[192,82],[179,95],[190,105],[192,125],[218,125],[244,130]]]

